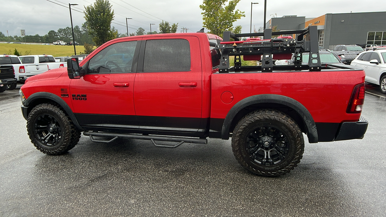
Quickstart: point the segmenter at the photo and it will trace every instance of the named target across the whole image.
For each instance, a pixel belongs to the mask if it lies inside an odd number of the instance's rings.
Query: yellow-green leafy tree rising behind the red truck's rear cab
[[[233,27],[233,23],[245,17],[244,12],[235,10],[240,0],[203,0],[200,8],[203,10],[203,27],[210,30],[209,33],[222,37],[224,31],[241,32],[241,25]]]

